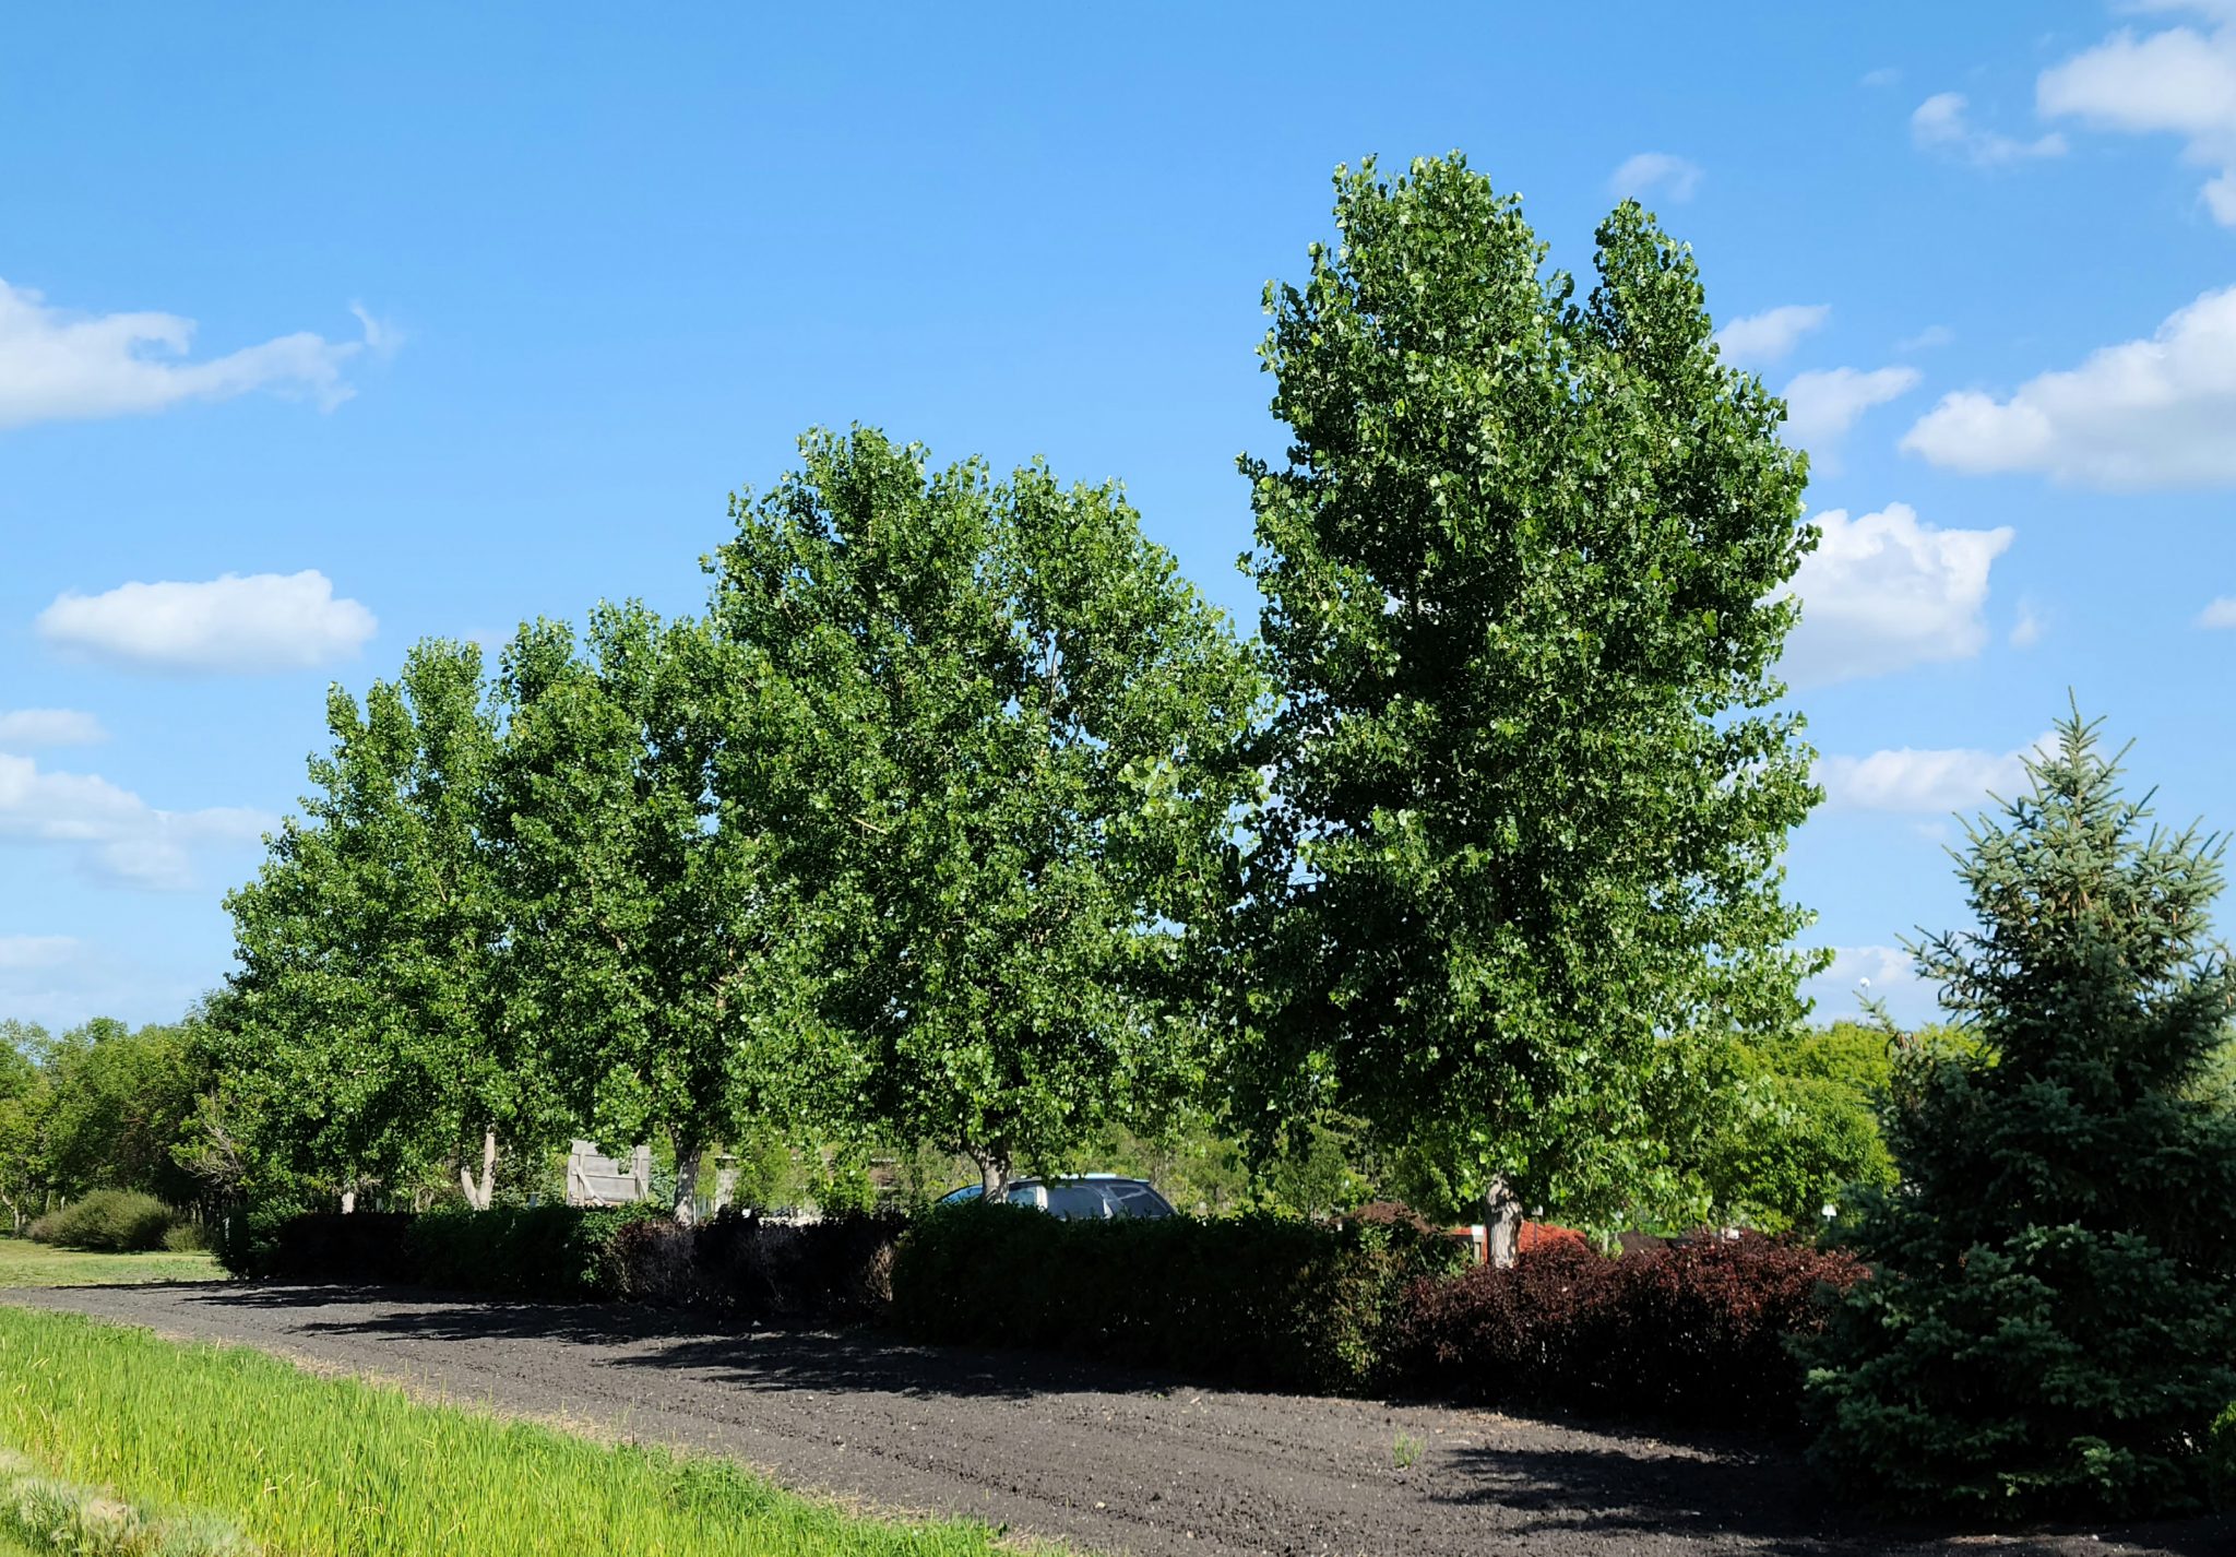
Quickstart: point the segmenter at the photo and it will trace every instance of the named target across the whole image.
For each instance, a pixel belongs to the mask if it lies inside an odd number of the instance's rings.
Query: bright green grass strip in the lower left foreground
[[[291,1557],[986,1557],[973,1523],[890,1523],[738,1465],[599,1445],[237,1347],[0,1309],[0,1445]]]

